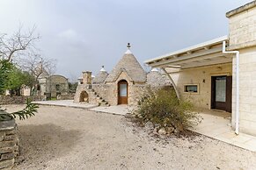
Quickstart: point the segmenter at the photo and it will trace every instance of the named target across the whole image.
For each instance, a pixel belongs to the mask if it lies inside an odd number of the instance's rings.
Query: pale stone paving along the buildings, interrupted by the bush
[[[40,101],[34,103],[88,109],[121,116],[126,115],[132,110],[132,108],[128,108],[127,105],[98,107],[97,105],[88,103],[73,103],[72,100]],[[191,131],[256,152],[256,137],[241,132],[239,135],[236,135],[230,128],[230,118],[227,117],[227,115],[228,114],[225,112],[204,110],[201,112],[201,117],[203,117],[201,124],[198,124],[194,129],[191,129]]]

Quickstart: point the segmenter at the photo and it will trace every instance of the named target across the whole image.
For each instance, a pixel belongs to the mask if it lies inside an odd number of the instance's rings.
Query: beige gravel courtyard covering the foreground
[[[111,114],[40,106],[35,117],[17,123],[21,156],[14,169],[256,168],[255,152],[203,136],[151,137]]]

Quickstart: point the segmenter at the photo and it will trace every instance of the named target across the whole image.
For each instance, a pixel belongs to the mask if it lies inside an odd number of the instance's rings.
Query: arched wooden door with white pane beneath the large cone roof
[[[128,81],[118,82],[118,104],[128,104]]]

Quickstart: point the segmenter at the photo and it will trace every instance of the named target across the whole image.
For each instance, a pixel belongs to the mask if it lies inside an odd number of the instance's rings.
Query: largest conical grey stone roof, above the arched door
[[[116,81],[121,72],[126,72],[131,81],[146,82],[147,75],[143,70],[143,67],[129,49],[124,53],[121,60],[119,60],[117,65],[113,67],[111,73],[106,77],[106,82]]]

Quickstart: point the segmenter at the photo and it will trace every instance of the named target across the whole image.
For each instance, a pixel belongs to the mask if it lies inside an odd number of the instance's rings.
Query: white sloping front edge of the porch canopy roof
[[[211,46],[211,45],[215,45],[216,43],[218,42],[222,42],[224,40],[228,40],[228,36],[227,35],[224,35],[222,37],[219,37],[219,38],[216,38],[216,39],[211,39],[211,40],[208,40],[208,41],[205,41],[205,42],[202,42],[200,44],[197,44],[197,45],[194,45],[194,46],[188,46],[187,48],[183,48],[183,49],[180,49],[178,51],[174,51],[172,53],[166,53],[164,55],[161,55],[159,57],[156,57],[156,58],[153,58],[153,59],[150,59],[150,60],[145,60],[144,63],[150,63],[152,61],[155,61],[155,60],[162,60],[164,59],[165,57],[170,57],[172,55],[177,55],[179,53],[186,53],[186,52],[189,52],[191,50],[195,50],[197,48],[201,48],[203,46]]]

